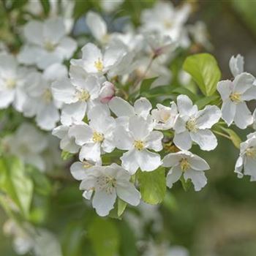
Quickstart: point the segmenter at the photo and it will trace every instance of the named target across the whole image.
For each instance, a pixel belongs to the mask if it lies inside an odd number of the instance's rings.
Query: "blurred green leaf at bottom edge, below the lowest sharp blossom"
[[[95,218],[89,227],[89,239],[95,255],[118,255],[119,234],[110,219]]]

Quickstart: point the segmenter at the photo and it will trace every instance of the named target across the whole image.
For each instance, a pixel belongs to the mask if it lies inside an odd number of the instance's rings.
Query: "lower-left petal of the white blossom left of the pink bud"
[[[86,115],[86,102],[75,102],[69,105],[64,105],[61,112],[61,124],[71,125],[82,121]]]

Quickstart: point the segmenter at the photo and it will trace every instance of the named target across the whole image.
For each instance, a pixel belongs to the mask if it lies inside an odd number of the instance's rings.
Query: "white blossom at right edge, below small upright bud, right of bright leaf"
[[[252,113],[246,101],[256,99],[255,77],[243,72],[231,80],[222,80],[217,84],[217,90],[222,97],[222,119],[228,126],[234,123],[240,129],[252,124]]]

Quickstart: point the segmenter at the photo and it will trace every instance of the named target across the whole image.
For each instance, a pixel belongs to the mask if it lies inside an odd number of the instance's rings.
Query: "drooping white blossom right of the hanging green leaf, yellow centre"
[[[162,166],[171,167],[166,177],[167,187],[173,187],[173,183],[184,176],[185,181],[191,179],[195,191],[206,186],[207,179],[204,170],[210,169],[208,163],[201,157],[189,151],[178,151],[167,154],[162,159]]]

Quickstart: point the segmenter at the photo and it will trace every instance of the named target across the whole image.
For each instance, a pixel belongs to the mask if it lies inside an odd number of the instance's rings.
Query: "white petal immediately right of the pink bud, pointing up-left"
[[[113,97],[108,102],[110,110],[118,117],[120,116],[134,116],[135,110],[131,105],[120,97]]]

